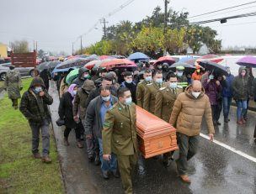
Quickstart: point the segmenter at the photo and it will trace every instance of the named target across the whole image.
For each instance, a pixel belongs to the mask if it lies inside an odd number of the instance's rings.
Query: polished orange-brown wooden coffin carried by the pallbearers
[[[146,159],[178,148],[176,128],[136,106],[136,133],[141,155]]]

